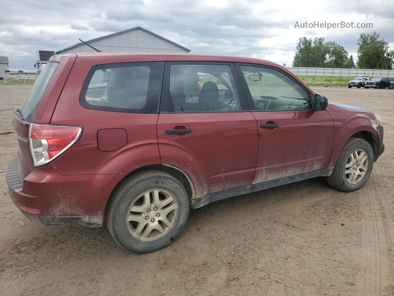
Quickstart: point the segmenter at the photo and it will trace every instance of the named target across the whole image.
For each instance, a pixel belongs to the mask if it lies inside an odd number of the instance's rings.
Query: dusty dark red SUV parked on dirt
[[[357,190],[384,149],[379,116],[328,104],[253,58],[57,55],[15,113],[7,184],[22,213],[51,225],[106,221],[138,252],[168,245],[190,208],[215,200],[317,176]]]

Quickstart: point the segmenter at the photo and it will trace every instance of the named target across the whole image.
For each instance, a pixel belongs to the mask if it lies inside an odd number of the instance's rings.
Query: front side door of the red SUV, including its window
[[[253,184],[327,169],[334,136],[328,112],[314,111],[309,91],[280,69],[237,69],[258,127]]]

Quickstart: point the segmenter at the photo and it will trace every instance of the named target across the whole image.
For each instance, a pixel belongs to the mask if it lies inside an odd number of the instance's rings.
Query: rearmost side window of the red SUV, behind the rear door
[[[84,83],[80,101],[88,109],[157,113],[162,62],[94,66]]]

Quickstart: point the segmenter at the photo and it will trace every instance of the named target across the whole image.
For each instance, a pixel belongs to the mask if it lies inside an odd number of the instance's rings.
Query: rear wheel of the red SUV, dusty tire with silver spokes
[[[159,197],[160,195],[162,198],[159,203],[156,203],[156,205],[159,204],[158,208],[154,208],[155,193],[153,189],[157,189],[156,192],[160,192],[157,196]],[[145,195],[141,197],[144,193],[147,194],[146,197]],[[166,195],[163,195],[162,193],[165,193]],[[173,208],[173,210],[165,214],[162,212],[166,208],[163,203],[165,203],[165,200],[171,196],[173,197],[173,201],[171,202],[171,208]],[[134,203],[138,203],[138,205]],[[146,217],[149,218],[144,221],[143,218],[140,219],[138,216],[134,216],[133,213],[135,212],[131,212],[131,206],[140,206],[141,208],[145,207],[145,210],[141,209],[140,213],[143,214],[142,216],[144,219]],[[162,210],[160,209],[161,206],[163,206]],[[149,214],[147,213],[148,210],[146,207],[149,210]],[[170,208],[170,206],[168,206],[168,208]],[[134,176],[130,176],[118,185],[108,205],[106,222],[113,239],[121,247],[127,251],[149,253],[164,248],[177,238],[188,220],[189,210],[190,202],[188,194],[177,179],[160,170],[145,170]],[[160,216],[160,213],[162,216],[160,218],[156,217],[157,214]],[[133,219],[134,217],[138,217],[141,222],[126,221],[126,217],[129,214]],[[144,215],[146,216],[144,217]],[[171,218],[169,218],[168,215],[172,215],[171,227],[167,227],[167,225],[160,220],[165,217],[165,219],[168,218],[167,221],[170,222]],[[154,222],[152,222],[152,220]],[[160,223],[160,221],[162,222]],[[136,232],[138,232],[138,229],[142,229],[140,225],[144,224],[147,226],[143,227],[141,234],[138,234],[139,238],[137,238],[137,234],[132,234],[132,231],[136,230]],[[155,227],[161,227],[162,232],[158,232],[158,230],[153,229],[144,240],[143,236],[148,232],[147,230]],[[159,234],[162,236],[149,238],[152,233],[157,236]]]

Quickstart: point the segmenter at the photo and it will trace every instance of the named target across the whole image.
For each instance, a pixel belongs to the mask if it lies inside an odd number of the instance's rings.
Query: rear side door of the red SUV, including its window
[[[160,157],[192,179],[196,198],[250,185],[255,177],[256,120],[237,92],[234,71],[227,63],[165,63]]]

